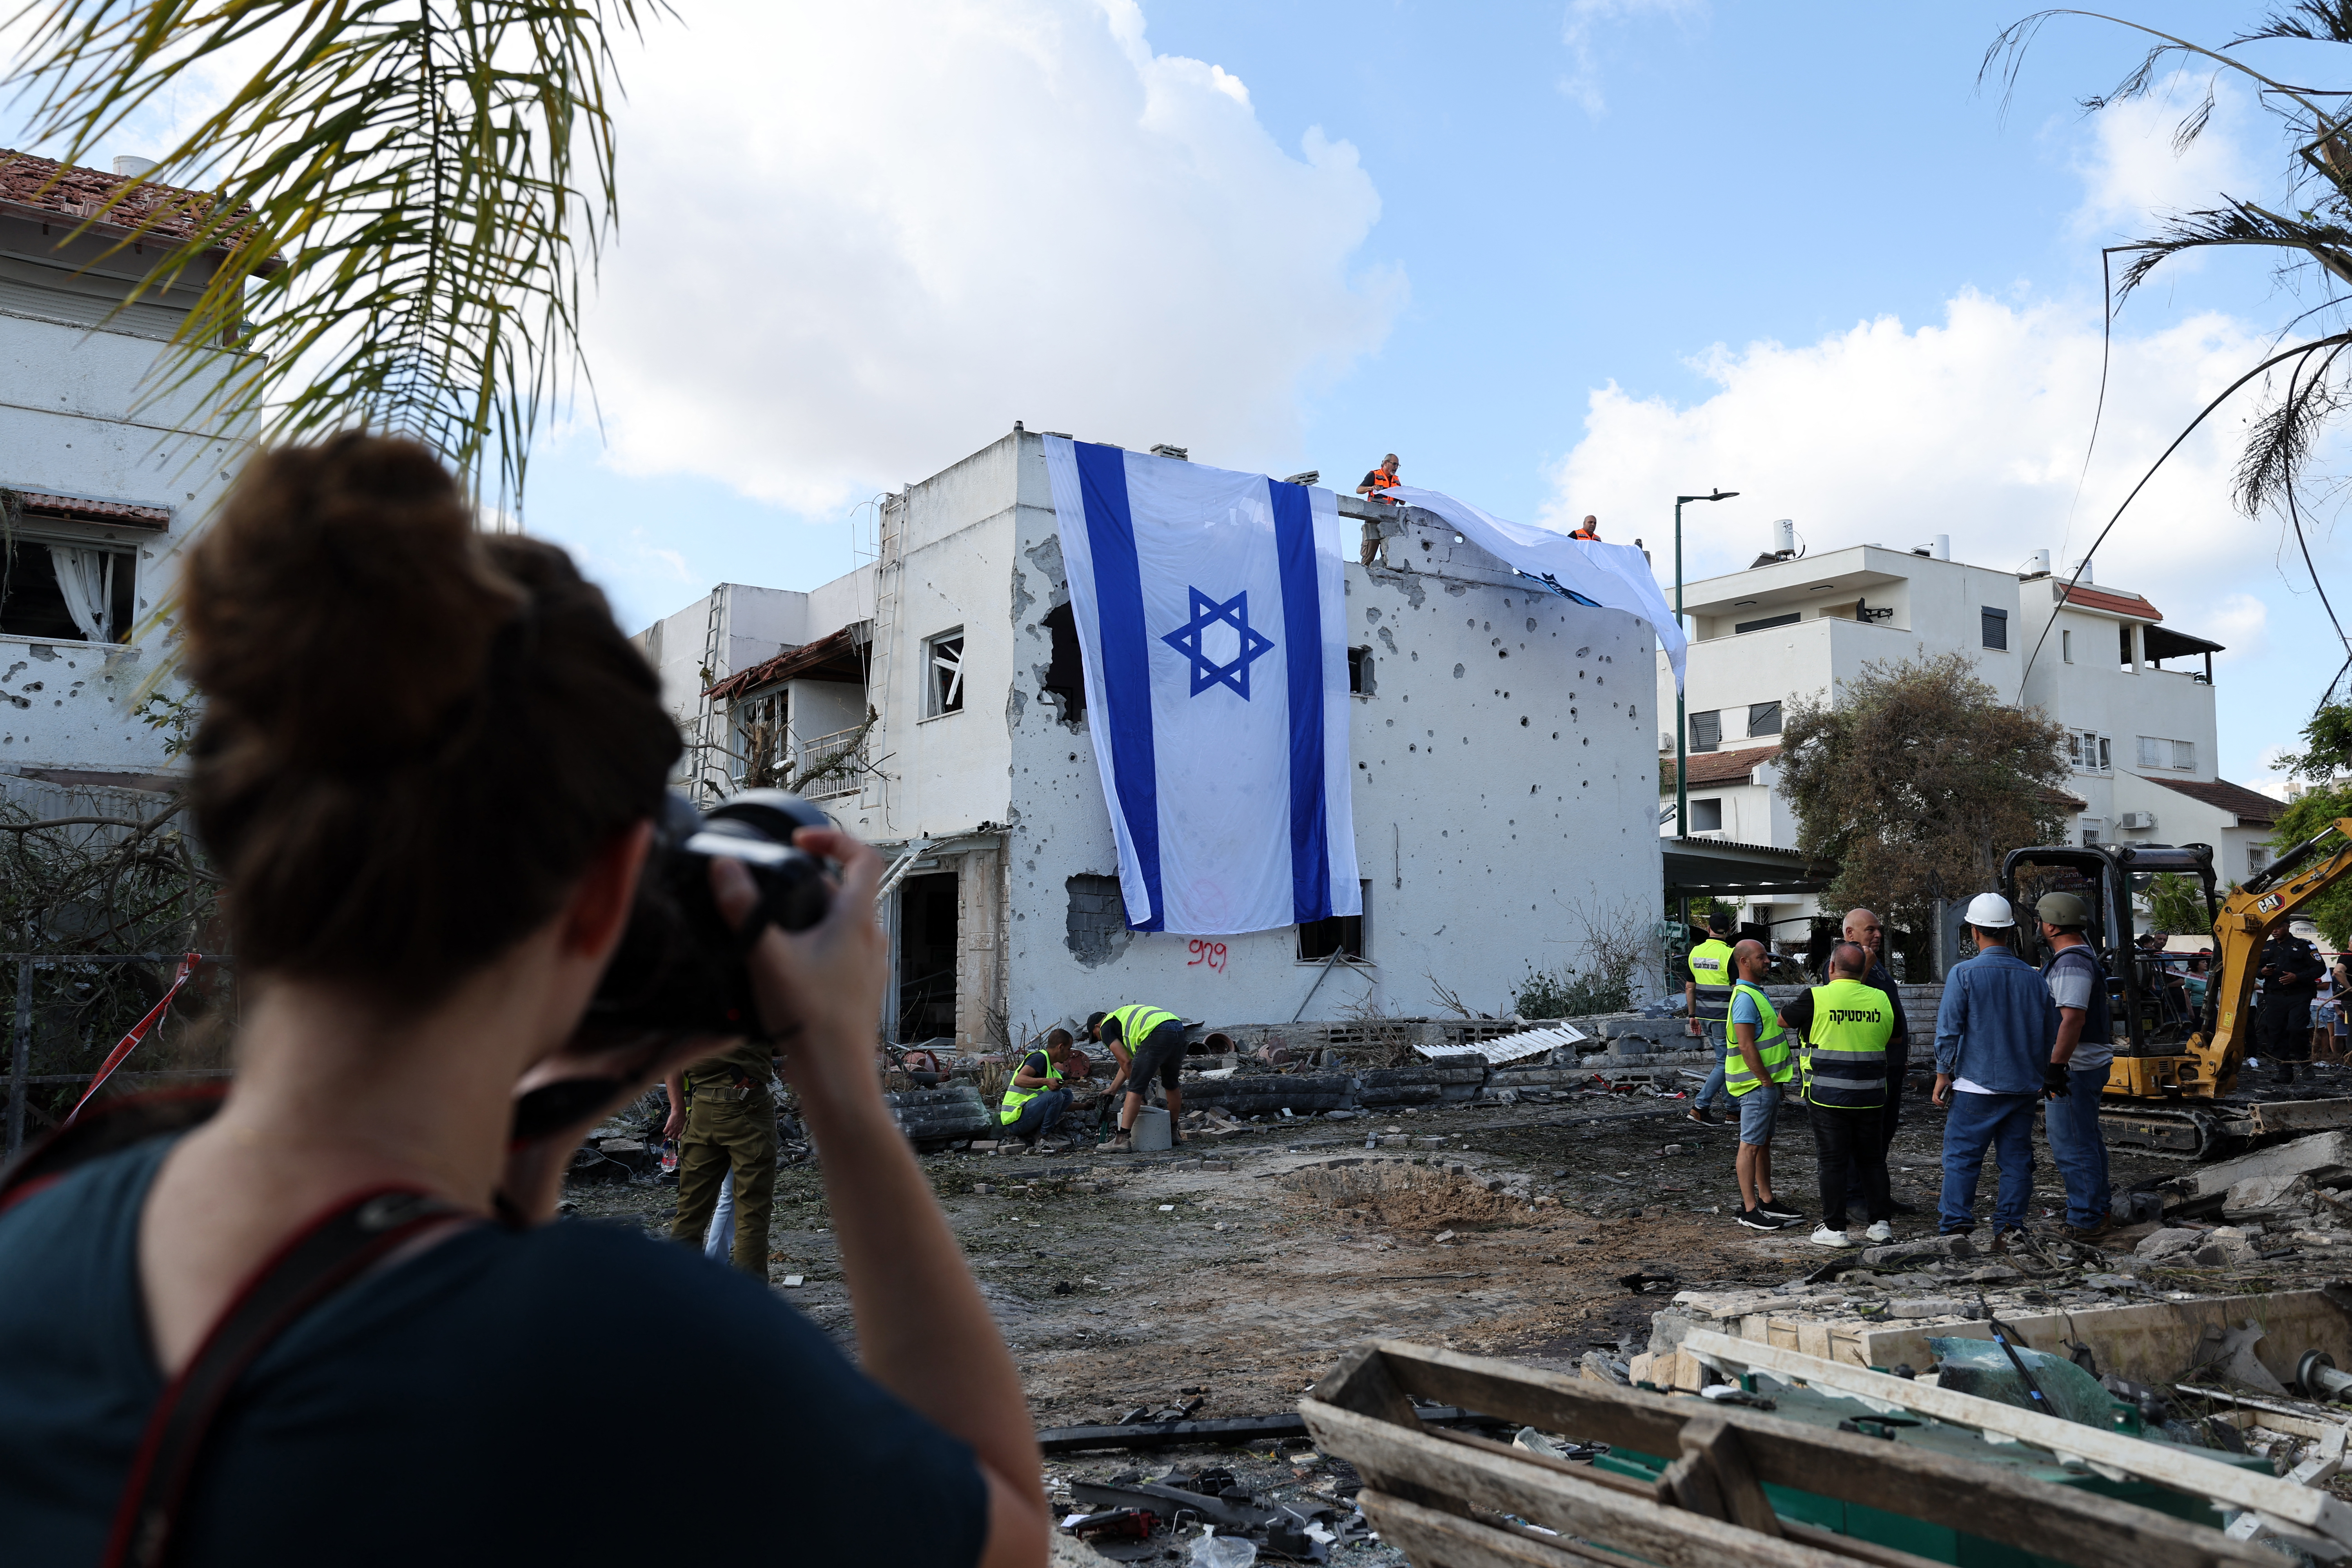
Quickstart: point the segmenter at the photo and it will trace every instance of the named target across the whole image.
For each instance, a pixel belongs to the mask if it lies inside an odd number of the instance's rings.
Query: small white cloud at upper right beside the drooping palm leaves
[[[2277,183],[2246,150],[2253,106],[2230,78],[2213,82],[2213,118],[2204,134],[2187,150],[2173,150],[2173,129],[2204,92],[2204,75],[2176,73],[2147,96],[2110,103],[2089,118],[2091,134],[2074,153],[2084,183],[2074,235],[2140,237],[2152,219],[2220,207],[2225,193],[2256,197]],[[2169,266],[2192,261],[2194,254]]]

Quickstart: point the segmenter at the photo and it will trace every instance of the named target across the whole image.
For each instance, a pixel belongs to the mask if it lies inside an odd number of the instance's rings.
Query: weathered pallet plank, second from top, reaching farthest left
[[[1442,1493],[1489,1514],[1517,1514],[1550,1530],[1649,1559],[1661,1568],[1724,1568],[1724,1563],[1853,1568],[1849,1559],[1818,1547],[1658,1507],[1644,1497],[1592,1486],[1583,1476],[1552,1474],[1517,1458],[1409,1432],[1319,1399],[1303,1399],[1298,1413],[1308,1418],[1308,1432],[1324,1453],[1336,1453],[1367,1476],[1411,1476],[1425,1493]],[[1428,1505],[1428,1497],[1416,1500]]]

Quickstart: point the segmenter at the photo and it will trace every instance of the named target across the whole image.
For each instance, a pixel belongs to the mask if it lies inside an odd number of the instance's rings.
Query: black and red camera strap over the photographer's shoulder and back
[[[419,1232],[477,1218],[430,1192],[374,1187],[336,1204],[254,1269],[148,1415],[115,1505],[106,1568],[158,1568],[167,1561],[172,1521],[188,1495],[205,1439],[219,1425],[238,1380],[278,1335]]]

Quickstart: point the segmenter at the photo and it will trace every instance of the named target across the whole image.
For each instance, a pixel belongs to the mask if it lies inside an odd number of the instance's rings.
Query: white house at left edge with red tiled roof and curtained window
[[[129,179],[68,169],[40,190],[56,172],[0,165],[0,776],[141,785],[172,771],[132,703],[162,646],[148,616],[249,428],[158,376],[205,277],[125,303],[153,244],[66,237]]]

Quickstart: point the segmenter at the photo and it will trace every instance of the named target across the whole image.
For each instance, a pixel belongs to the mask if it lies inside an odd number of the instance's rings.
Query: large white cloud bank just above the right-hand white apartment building
[[[1795,517],[1813,552],[1950,534],[1952,555],[1980,567],[2016,567],[2037,548],[2067,564],[2265,343],[2225,315],[2117,339],[2079,505],[2100,355],[2086,308],[2018,308],[1966,292],[1940,324],[1915,331],[1879,317],[1797,348],[1717,346],[1696,362],[1717,388],[1703,402],[1616,386],[1590,395],[1545,522],[1599,512],[1609,538],[1649,538],[1670,574],[1672,498],[1719,484],[1740,498],[1684,510],[1689,578],[1745,567],[1771,548],[1773,517]],[[2190,437],[2100,545],[2093,571],[2145,592],[2180,630],[2258,654],[2265,602],[2279,592],[2277,534],[2230,510],[2241,435],[2225,409]]]

